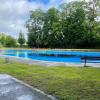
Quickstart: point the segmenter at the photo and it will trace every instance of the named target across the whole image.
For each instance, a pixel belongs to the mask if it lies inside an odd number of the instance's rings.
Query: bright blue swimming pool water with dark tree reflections
[[[78,52],[78,51],[61,51],[61,50],[4,50],[3,55],[16,56],[22,58],[28,58],[32,60],[43,61],[56,61],[56,62],[74,62],[80,63],[80,56],[98,56],[100,52]],[[75,55],[70,57],[61,56],[41,56],[38,54],[61,54],[61,55]]]

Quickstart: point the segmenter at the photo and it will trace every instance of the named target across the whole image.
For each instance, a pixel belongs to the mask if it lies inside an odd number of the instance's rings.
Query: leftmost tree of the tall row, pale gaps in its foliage
[[[30,12],[30,19],[27,21],[28,46],[39,47],[42,39],[42,28],[44,25],[44,12],[40,9]]]

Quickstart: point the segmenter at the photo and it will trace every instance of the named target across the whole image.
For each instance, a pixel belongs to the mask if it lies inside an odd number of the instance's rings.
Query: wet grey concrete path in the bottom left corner
[[[0,74],[0,100],[56,100],[6,74]]]

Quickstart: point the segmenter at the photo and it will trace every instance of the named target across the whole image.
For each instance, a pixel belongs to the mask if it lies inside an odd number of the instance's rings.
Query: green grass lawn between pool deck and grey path
[[[15,61],[4,64],[0,73],[10,74],[59,100],[100,100],[100,68],[41,67]]]

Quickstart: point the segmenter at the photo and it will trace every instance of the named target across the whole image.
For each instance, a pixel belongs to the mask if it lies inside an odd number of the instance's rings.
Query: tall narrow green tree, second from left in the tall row
[[[60,35],[60,22],[59,11],[56,8],[48,9],[44,20],[43,32],[46,45],[51,48],[57,47],[58,37]]]

